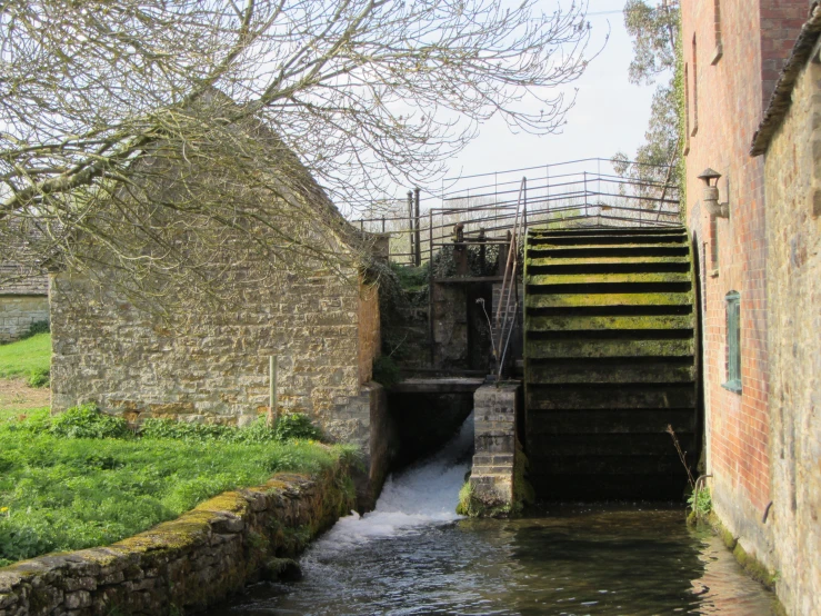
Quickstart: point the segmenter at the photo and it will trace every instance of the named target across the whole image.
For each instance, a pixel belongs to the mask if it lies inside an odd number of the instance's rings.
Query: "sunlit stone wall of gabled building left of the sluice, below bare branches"
[[[360,496],[368,506],[387,470],[390,438],[384,394],[371,381],[380,316],[367,242],[296,156],[287,158],[289,172],[301,172],[289,188],[299,191],[293,201],[310,208],[309,218],[332,219],[323,241],[334,262],[301,262],[300,274],[266,268],[264,279],[253,262],[231,266],[237,271],[221,275],[261,284],[238,287],[228,306],[166,318],[108,287],[104,271],[102,278],[53,272],[52,411],[96,403],[138,424],[158,417],[247,425],[268,411],[274,356],[277,413],[306,413],[332,439],[362,448],[370,470]]]

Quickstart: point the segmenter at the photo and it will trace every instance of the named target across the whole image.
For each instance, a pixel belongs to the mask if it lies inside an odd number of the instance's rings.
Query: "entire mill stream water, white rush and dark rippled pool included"
[[[434,458],[391,477],[301,559],[304,579],[260,584],[212,614],[764,616],[771,598],[681,508],[561,506],[460,519],[472,417]]]

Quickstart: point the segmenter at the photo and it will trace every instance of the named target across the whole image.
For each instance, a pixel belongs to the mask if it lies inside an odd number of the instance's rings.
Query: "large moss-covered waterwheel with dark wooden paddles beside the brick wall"
[[[524,272],[525,441],[538,496],[679,498],[695,455],[683,228],[532,229]]]

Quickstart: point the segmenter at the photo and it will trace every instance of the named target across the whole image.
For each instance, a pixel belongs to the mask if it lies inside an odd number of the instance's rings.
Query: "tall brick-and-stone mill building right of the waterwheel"
[[[717,515],[778,574],[788,612],[814,614],[821,284],[811,192],[819,150],[809,137],[820,95],[805,50],[818,9],[807,0],[682,0],[681,12],[705,471]],[[755,153],[767,160],[750,153],[757,130]]]

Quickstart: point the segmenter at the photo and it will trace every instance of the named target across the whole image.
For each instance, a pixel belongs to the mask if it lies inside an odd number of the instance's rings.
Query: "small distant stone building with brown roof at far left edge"
[[[14,264],[0,265],[0,342],[17,340],[29,328],[49,320],[48,276],[21,276]]]

